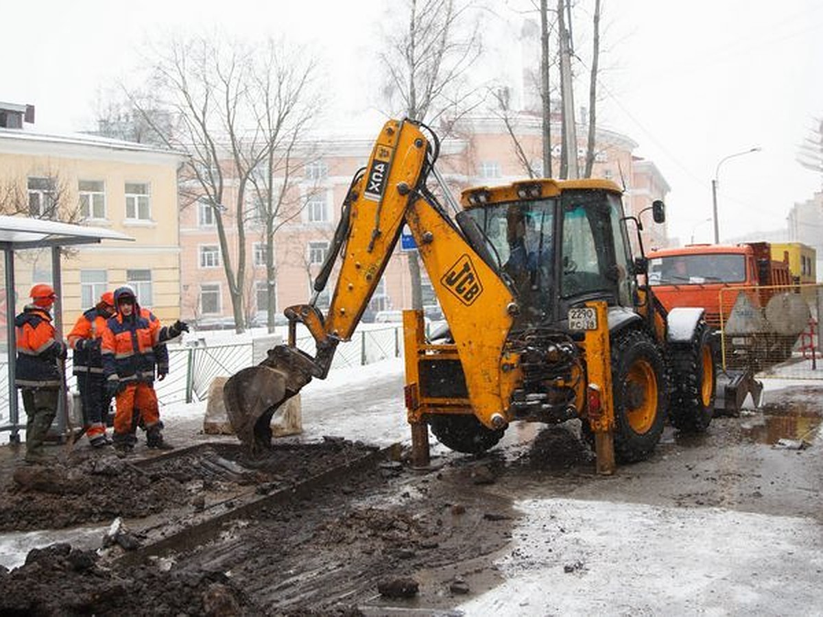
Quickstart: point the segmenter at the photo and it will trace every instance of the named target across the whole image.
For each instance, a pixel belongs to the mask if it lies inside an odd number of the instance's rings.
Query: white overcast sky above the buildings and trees
[[[823,2],[602,2],[601,123],[637,141],[635,153],[654,160],[672,186],[671,233],[710,241],[715,167],[753,146],[763,150],[720,169],[721,238],[784,225],[788,208],[820,187],[795,157],[814,118],[823,116]],[[489,0],[489,31],[529,3]],[[385,0],[12,2],[3,8],[4,24],[17,27],[4,28],[0,38],[7,58],[0,100],[35,104],[39,128],[78,130],[93,117],[95,93],[128,78],[147,38],[218,26],[243,36],[285,31],[324,58],[337,117],[367,118],[370,134],[382,121],[370,68],[379,21],[391,6]],[[577,27],[575,39],[588,44],[588,24]],[[505,71],[506,49],[501,43],[486,69]]]

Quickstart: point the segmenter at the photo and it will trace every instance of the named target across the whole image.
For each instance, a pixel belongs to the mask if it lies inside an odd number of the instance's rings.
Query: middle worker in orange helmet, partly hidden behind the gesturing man
[[[111,397],[105,387],[100,346],[105,322],[112,315],[114,294],[106,291],[100,296],[100,302],[77,318],[72,332],[68,333],[68,346],[73,350],[72,372],[77,378],[83,417],[86,420],[86,437],[93,448],[110,443],[105,434],[105,420]]]

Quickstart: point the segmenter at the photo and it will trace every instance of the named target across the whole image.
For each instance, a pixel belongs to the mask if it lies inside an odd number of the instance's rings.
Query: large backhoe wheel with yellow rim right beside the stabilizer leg
[[[663,352],[646,332],[621,332],[611,341],[615,455],[620,462],[649,457],[663,434],[668,380]]]

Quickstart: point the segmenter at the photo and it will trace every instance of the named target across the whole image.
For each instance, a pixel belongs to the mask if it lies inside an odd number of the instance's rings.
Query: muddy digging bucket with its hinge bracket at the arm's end
[[[289,346],[269,350],[257,366],[232,375],[223,387],[226,413],[235,434],[252,452],[272,445],[272,415],[311,381],[301,370],[305,355]]]

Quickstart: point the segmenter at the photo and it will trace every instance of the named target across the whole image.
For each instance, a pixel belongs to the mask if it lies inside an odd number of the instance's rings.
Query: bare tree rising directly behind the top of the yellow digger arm
[[[467,72],[481,55],[478,21],[471,2],[405,0],[402,27],[384,35],[380,62],[384,95],[395,115],[405,114],[448,133],[459,118],[481,104],[480,90],[467,86]],[[397,12],[397,7],[393,6]],[[420,262],[408,253],[412,308],[423,308]]]

